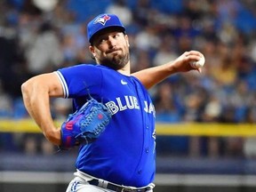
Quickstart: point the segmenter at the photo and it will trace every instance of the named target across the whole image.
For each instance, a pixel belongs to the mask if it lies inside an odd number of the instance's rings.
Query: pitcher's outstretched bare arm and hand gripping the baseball
[[[201,56],[202,53],[197,51],[184,52],[176,60],[165,63],[161,66],[140,70],[132,73],[132,76],[139,78],[141,83],[149,89],[163,81],[166,77],[178,72],[187,72],[190,70],[198,70],[201,72],[201,68],[195,69],[189,64],[190,61],[199,60]]]

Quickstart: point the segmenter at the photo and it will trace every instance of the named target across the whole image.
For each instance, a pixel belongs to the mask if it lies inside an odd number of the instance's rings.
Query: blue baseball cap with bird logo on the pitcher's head
[[[103,13],[91,20],[87,25],[87,38],[92,44],[92,37],[105,28],[118,28],[125,31],[124,25],[116,14]]]

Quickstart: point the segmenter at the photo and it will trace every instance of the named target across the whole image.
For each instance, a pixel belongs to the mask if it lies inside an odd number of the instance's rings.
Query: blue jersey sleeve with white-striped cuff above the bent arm
[[[59,76],[64,98],[88,95],[102,86],[101,69],[90,64],[60,68],[55,73]]]

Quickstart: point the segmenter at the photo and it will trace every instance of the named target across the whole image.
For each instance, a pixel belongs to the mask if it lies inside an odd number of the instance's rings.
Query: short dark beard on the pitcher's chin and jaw
[[[112,56],[102,58],[100,61],[100,65],[106,66],[108,68],[113,68],[115,70],[119,70],[124,68],[127,65],[128,61],[130,60],[129,51],[125,52],[124,54],[116,54],[113,53]]]

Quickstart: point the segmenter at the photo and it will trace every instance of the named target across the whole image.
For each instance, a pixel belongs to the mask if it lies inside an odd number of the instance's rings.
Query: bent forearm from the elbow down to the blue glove
[[[28,80],[22,84],[21,92],[28,114],[44,133],[47,140],[60,145],[60,130],[53,123],[50,110],[49,89],[38,81]]]

